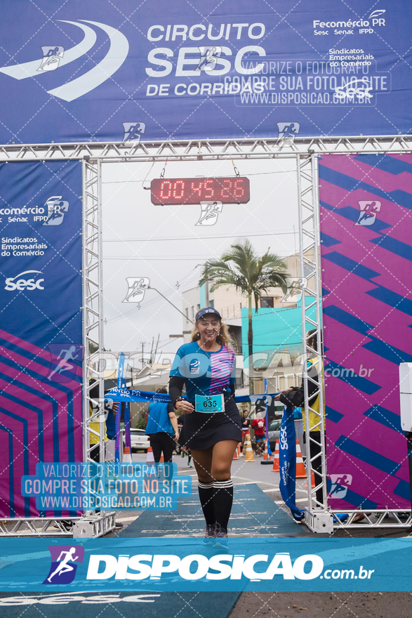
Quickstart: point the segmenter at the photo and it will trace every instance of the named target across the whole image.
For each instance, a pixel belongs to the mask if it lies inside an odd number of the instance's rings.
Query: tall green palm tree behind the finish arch
[[[220,260],[208,260],[204,264],[199,285],[206,281],[213,282],[211,291],[223,285],[234,285],[237,291],[248,298],[248,355],[249,355],[249,393],[253,395],[253,326],[252,296],[255,299],[255,313],[258,313],[258,301],[271,287],[287,290],[286,264],[275,254],[270,254],[270,247],[259,257],[251,242],[246,238],[237,239],[230,250],[222,254]]]

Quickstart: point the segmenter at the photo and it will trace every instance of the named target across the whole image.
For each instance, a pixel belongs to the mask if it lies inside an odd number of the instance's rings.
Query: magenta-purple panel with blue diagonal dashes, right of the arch
[[[412,155],[325,155],[319,197],[328,504],[409,510]]]

